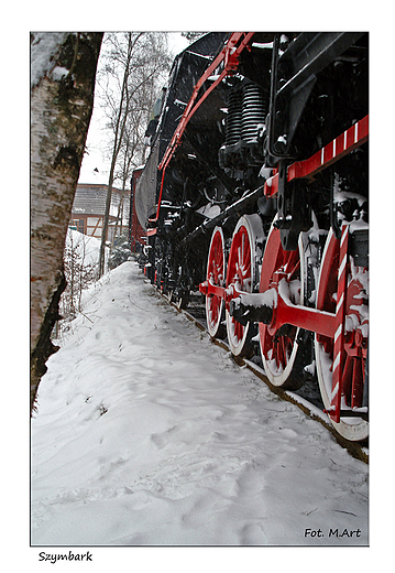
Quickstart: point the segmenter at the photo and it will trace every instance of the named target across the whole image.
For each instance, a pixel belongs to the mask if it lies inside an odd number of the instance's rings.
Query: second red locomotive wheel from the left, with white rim
[[[235,283],[243,292],[252,292],[255,280],[255,237],[249,216],[243,216],[235,226],[229,251],[227,286]],[[227,334],[230,349],[234,356],[242,354],[250,329],[250,323],[240,324],[226,312]]]

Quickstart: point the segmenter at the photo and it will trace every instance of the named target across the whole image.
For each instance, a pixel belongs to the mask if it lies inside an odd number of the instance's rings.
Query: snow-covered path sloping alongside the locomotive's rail
[[[134,262],[87,291],[84,312],[32,421],[33,545],[367,543],[367,466]]]

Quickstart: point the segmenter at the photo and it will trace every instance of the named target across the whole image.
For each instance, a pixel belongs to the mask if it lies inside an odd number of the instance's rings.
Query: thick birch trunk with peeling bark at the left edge
[[[63,250],[94,105],[101,33],[31,34],[31,411],[66,281]]]

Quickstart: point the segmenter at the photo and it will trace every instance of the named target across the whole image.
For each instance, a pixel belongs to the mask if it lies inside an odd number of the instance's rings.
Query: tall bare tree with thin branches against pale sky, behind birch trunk
[[[102,100],[112,130],[111,163],[100,246],[98,275],[105,271],[105,249],[113,183],[119,179],[122,190],[136,166],[136,155],[143,155],[143,138],[158,82],[171,63],[166,34],[129,32],[110,34],[106,40],[109,53],[105,65],[114,82],[105,82]],[[121,79],[122,78],[122,79]],[[119,214],[122,206],[119,206]],[[118,223],[117,223],[118,227]]]

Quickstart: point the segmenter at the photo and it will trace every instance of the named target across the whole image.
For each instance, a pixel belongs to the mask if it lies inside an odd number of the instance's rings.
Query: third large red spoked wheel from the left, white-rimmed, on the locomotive
[[[279,230],[272,224],[262,261],[260,292],[265,292],[281,278],[290,302],[303,304],[304,272],[301,237],[298,249],[286,251],[282,246]],[[273,386],[297,389],[303,385],[298,335],[299,328],[296,326],[285,324],[273,332],[270,325],[260,323],[262,361]]]

